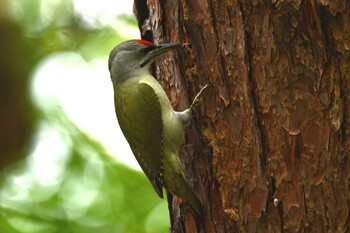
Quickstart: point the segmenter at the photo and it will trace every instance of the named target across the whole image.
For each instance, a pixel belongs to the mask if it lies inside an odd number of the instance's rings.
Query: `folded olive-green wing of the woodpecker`
[[[146,83],[125,84],[115,88],[118,122],[142,170],[158,196],[161,184],[162,115],[158,96]]]

